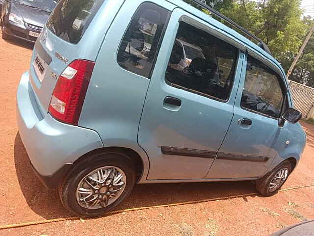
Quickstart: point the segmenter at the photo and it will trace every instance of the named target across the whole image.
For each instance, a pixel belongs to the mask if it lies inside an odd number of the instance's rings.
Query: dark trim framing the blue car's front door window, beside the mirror
[[[246,51],[246,54],[247,54],[247,55],[250,55],[252,58],[258,60],[258,61],[261,62],[264,66],[269,67],[269,69],[277,68],[277,67],[274,67],[274,65],[271,64],[268,60],[265,60],[264,58],[262,58],[262,56],[260,56],[260,55],[258,55],[258,54],[255,54],[255,53],[252,53],[252,51],[247,50],[247,51]],[[253,55],[252,55],[252,54],[253,54]],[[246,71],[247,71],[247,61],[248,61],[248,57],[246,57],[245,77],[246,77]],[[267,61],[267,62],[264,63],[264,61]],[[274,71],[274,72],[276,73],[276,75],[277,75],[276,77],[277,77],[277,80],[278,80],[278,83],[279,83],[279,87],[280,87],[280,89],[281,89],[282,96],[283,96],[283,102],[282,102],[282,104],[281,104],[281,110],[280,110],[280,117],[279,117],[279,118],[273,117],[273,116],[264,114],[264,113],[262,113],[262,112],[258,112],[258,111],[255,111],[255,110],[252,110],[252,109],[249,109],[249,108],[246,108],[246,107],[242,107],[241,102],[240,102],[240,107],[241,107],[243,110],[245,110],[245,111],[252,112],[252,113],[255,113],[255,114],[258,114],[258,115],[267,117],[267,118],[279,120],[279,119],[281,118],[282,114],[283,114],[283,108],[284,108],[284,103],[285,103],[285,96],[287,96],[288,89],[286,88],[286,84],[285,84],[284,81],[283,81],[283,77],[281,76],[281,73],[278,74],[278,71],[280,71],[280,70],[277,68],[277,70],[273,70],[273,71]],[[245,83],[245,77],[244,77],[244,83]],[[280,78],[280,79],[279,79],[279,78]],[[244,89],[242,89],[241,99],[242,99],[243,91],[244,91]],[[288,104],[288,107],[289,107],[289,104]]]

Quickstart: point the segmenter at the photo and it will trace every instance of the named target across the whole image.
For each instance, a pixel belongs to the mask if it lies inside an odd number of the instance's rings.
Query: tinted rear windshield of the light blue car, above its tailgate
[[[59,38],[76,44],[105,0],[61,0],[46,25]]]

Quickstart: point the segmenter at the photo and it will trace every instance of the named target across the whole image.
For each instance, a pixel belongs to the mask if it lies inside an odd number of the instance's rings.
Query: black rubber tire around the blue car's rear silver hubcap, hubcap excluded
[[[87,209],[79,205],[76,190],[79,182],[88,173],[103,166],[120,168],[126,176],[126,185],[122,194],[111,204],[100,209]],[[102,151],[83,157],[64,178],[59,186],[60,199],[63,206],[71,213],[80,217],[96,217],[111,211],[128,197],[135,184],[135,167],[131,160],[122,153]]]

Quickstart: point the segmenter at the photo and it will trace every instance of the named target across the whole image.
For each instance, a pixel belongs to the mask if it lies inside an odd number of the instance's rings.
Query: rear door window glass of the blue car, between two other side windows
[[[171,86],[226,101],[232,88],[238,53],[234,46],[181,22],[166,81]]]

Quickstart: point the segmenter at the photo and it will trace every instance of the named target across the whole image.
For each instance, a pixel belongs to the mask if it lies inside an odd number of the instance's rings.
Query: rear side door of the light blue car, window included
[[[234,114],[244,57],[234,46],[244,45],[220,38],[219,29],[195,16],[172,12],[139,127],[150,162],[147,179],[202,179],[212,165]],[[178,40],[202,56],[188,61]]]

